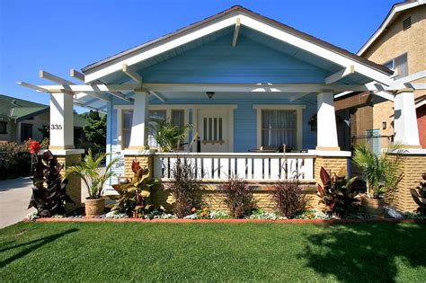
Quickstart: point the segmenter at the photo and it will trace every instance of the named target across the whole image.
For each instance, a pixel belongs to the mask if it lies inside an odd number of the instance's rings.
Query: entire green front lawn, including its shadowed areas
[[[426,225],[20,223],[1,281],[423,281]]]

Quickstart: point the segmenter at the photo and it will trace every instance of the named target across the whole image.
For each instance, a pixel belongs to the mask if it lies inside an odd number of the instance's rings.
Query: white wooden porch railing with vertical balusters
[[[234,173],[247,181],[292,179],[314,180],[315,155],[310,154],[245,154],[245,153],[155,153],[154,177],[171,179],[177,158],[191,164],[197,180],[220,181]]]

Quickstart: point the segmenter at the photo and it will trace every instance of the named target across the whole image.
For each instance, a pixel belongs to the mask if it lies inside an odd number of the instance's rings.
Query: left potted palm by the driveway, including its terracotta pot
[[[66,178],[70,174],[77,174],[84,181],[89,197],[84,201],[84,213],[86,217],[95,217],[103,214],[105,208],[105,199],[102,199],[102,189],[108,179],[114,172],[111,171],[112,166],[116,164],[120,157],[111,159],[111,162],[102,170],[100,167],[102,161],[110,154],[100,153],[93,155],[89,149],[84,160],[75,166],[70,166],[67,169]]]

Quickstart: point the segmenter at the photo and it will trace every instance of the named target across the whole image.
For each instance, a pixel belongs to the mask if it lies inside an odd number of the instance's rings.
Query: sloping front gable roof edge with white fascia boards
[[[235,5],[221,13],[217,13],[216,15],[213,15],[209,18],[206,18],[200,22],[195,22],[185,28],[182,28],[177,31],[173,31],[169,34],[164,35],[163,37],[160,37],[156,40],[151,40],[149,42],[146,42],[142,45],[139,45],[133,49],[128,49],[126,51],[120,52],[119,54],[116,54],[111,57],[107,57],[101,61],[95,62],[89,66],[85,66],[82,71],[84,74],[86,74],[86,78],[88,75],[92,74],[93,72],[96,72],[98,70],[101,70],[102,68],[106,68],[108,66],[113,65],[114,63],[119,62],[120,60],[124,60],[129,57],[133,57],[138,55],[141,52],[147,51],[149,49],[154,49],[156,47],[161,46],[162,44],[165,44],[166,42],[170,40],[178,39],[182,36],[185,36],[192,31],[196,31],[202,27],[209,26],[210,24],[213,24],[215,22],[220,22],[221,20],[225,20],[226,18],[235,15],[235,14],[244,14],[251,19],[254,19],[257,22],[265,23],[266,25],[273,27],[275,29],[278,29],[280,31],[285,31],[288,34],[291,34],[292,36],[297,37],[298,39],[305,40],[309,43],[314,44],[315,46],[318,46],[323,49],[331,50],[333,53],[338,54],[342,57],[346,57],[351,59],[352,61],[355,61],[359,63],[362,66],[368,66],[370,69],[373,69],[383,75],[391,75],[393,72],[386,68],[385,66],[378,65],[374,62],[369,61],[368,59],[364,57],[359,57],[353,53],[351,53],[348,50],[341,49],[339,47],[334,46],[333,44],[330,44],[328,42],[325,42],[324,40],[319,40],[309,34],[306,34],[302,31],[297,31],[296,29],[293,29],[289,27],[286,24],[283,24],[281,22],[274,21],[268,17],[265,17],[259,13],[253,13],[253,11],[248,10],[240,5]],[[244,24],[244,23],[242,23]],[[94,80],[94,78],[93,78]],[[88,82],[93,81],[92,79],[88,79]],[[87,82],[86,82],[87,83]]]

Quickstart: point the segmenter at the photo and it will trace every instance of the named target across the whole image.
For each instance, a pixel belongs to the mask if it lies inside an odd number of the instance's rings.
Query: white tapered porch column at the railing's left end
[[[148,142],[148,93],[135,93],[129,149],[145,149]]]

